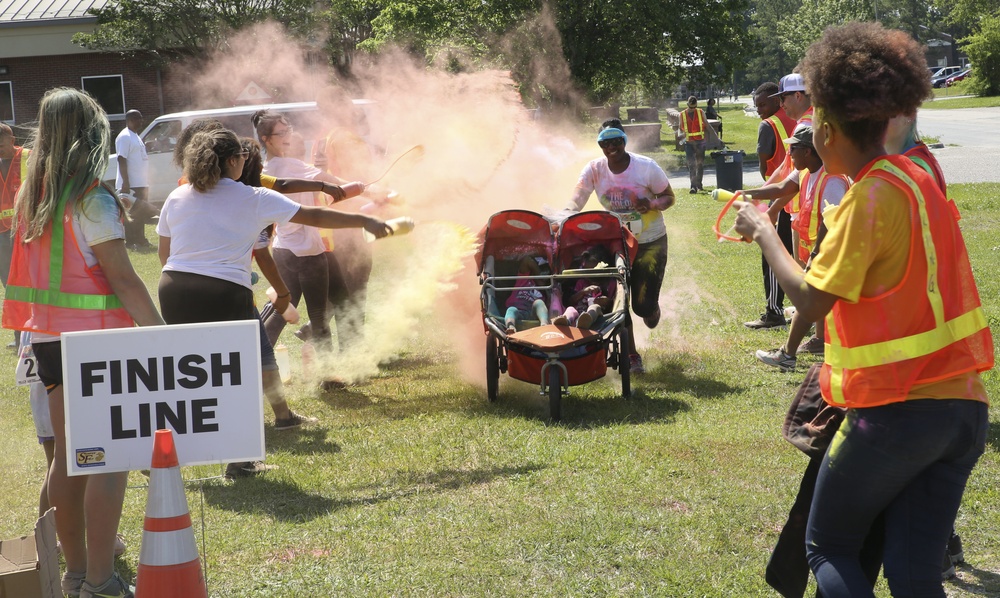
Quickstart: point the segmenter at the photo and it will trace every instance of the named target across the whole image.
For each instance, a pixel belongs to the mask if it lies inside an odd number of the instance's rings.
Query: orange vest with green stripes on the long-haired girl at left
[[[83,195],[96,186],[95,180]],[[17,228],[4,328],[59,334],[133,326],[100,265],[87,266],[73,231],[75,205],[67,186],[41,237],[25,243],[23,229]]]

